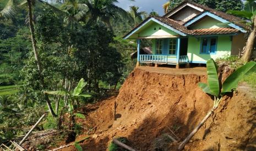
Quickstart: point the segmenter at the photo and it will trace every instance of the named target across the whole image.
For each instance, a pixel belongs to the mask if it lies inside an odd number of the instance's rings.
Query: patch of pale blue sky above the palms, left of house
[[[125,10],[128,10],[130,5],[135,5],[140,8],[140,11],[147,11],[150,13],[150,11],[154,9],[159,15],[164,15],[162,5],[168,2],[168,0],[135,0],[135,2],[119,0],[118,2],[117,5]]]

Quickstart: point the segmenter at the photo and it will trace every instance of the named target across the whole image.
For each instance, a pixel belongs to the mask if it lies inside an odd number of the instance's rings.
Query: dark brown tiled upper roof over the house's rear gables
[[[234,15],[231,15],[231,14],[227,14],[227,13],[224,13],[223,11],[215,10],[215,9],[209,8],[209,7],[205,6],[205,5],[200,5],[200,4],[197,4],[197,3],[194,3],[194,2],[190,2],[190,1],[183,1],[177,7],[173,8],[168,13],[166,13],[163,17],[166,18],[168,15],[170,15],[173,11],[177,10],[184,3],[190,3],[190,4],[193,4],[193,5],[201,8],[201,9],[204,9],[204,11],[201,12],[201,13],[204,13],[205,11],[209,11],[210,13],[213,13],[213,14],[215,14],[217,16],[220,16],[221,18],[223,18],[223,19],[225,19],[227,21],[233,22],[237,26],[240,26],[240,27],[248,29],[248,26],[246,24],[243,24],[243,22],[241,22],[243,20],[241,18],[238,18],[237,16],[234,16]],[[200,15],[200,14],[198,14],[198,15]],[[197,16],[195,16],[195,17],[197,17]]]

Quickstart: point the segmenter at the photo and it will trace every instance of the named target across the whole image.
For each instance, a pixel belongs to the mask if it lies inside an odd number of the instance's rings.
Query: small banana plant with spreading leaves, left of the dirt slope
[[[71,99],[71,101],[69,101],[69,103],[68,103],[68,112],[70,114],[69,129],[71,129],[73,127],[74,117],[78,117],[78,118],[82,118],[82,119],[85,118],[83,114],[73,113],[74,112],[74,106],[73,106],[74,101],[77,101],[77,104],[78,104],[79,97],[85,97],[85,98],[91,97],[91,95],[89,93],[82,93],[82,90],[85,85],[86,85],[86,83],[84,82],[84,79],[82,78],[82,79],[80,79],[78,85],[75,87],[73,92],[69,92],[66,90],[45,91],[45,94],[61,95],[61,96],[67,95]]]

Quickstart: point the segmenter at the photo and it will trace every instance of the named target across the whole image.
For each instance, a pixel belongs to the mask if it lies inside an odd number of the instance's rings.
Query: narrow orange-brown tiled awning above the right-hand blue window
[[[207,29],[197,29],[191,30],[193,35],[210,35],[210,34],[231,34],[237,33],[238,30],[234,28],[207,28]]]

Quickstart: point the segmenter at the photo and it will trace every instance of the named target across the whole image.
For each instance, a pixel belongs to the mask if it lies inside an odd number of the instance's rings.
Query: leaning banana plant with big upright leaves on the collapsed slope
[[[198,86],[206,93],[211,96],[214,96],[214,105],[213,108],[208,112],[205,118],[198,124],[197,127],[189,134],[189,136],[179,145],[178,149],[182,150],[184,146],[188,143],[188,141],[197,133],[201,126],[205,123],[205,121],[210,117],[211,114],[219,106],[221,99],[226,94],[233,92],[237,89],[239,81],[243,78],[244,74],[246,74],[250,69],[252,69],[256,65],[256,62],[248,62],[242,67],[238,68],[235,72],[233,72],[225,82],[222,84],[222,88],[220,86],[217,65],[213,59],[210,59],[206,62],[207,66],[207,74],[208,74],[208,83],[199,83]]]

